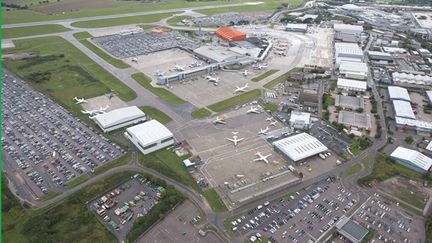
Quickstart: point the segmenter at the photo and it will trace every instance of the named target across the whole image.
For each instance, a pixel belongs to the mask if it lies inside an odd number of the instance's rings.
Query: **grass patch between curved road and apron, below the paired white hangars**
[[[198,186],[195,179],[183,164],[183,160],[188,157],[189,155],[179,158],[174,152],[163,149],[148,155],[139,154],[138,161],[144,166],[152,168],[201,193],[207,199],[214,211],[226,211],[227,208],[219,198],[216,191],[212,189],[203,191]]]

